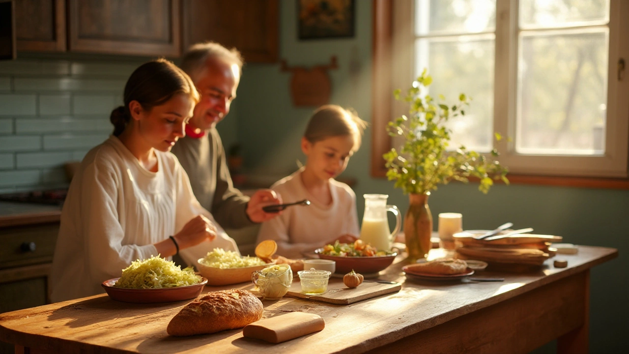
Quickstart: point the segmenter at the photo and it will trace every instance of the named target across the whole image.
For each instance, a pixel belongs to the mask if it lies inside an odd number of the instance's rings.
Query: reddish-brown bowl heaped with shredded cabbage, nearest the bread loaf
[[[155,303],[194,299],[206,283],[208,280],[196,275],[194,269],[181,269],[157,256],[131,262],[120,278],[106,280],[101,286],[114,300]]]

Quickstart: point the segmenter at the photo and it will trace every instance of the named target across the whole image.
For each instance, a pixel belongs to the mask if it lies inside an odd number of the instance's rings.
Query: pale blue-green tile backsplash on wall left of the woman
[[[64,163],[107,139],[143,60],[0,61],[0,193],[67,186]]]

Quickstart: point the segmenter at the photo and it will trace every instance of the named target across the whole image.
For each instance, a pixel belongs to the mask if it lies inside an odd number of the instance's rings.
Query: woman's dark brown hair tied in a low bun
[[[129,103],[138,101],[144,110],[164,104],[175,94],[186,94],[199,103],[199,93],[187,74],[166,59],[157,59],[135,69],[125,85],[125,105],[111,111],[114,136],[120,135],[131,120]]]

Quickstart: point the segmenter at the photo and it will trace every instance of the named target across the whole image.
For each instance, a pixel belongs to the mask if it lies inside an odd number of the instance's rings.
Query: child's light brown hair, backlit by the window
[[[339,135],[353,135],[354,146],[352,151],[360,148],[362,134],[367,127],[367,122],[360,119],[351,108],[345,109],[337,105],[325,105],[317,108],[310,117],[304,137],[311,143],[315,143],[328,137]]]

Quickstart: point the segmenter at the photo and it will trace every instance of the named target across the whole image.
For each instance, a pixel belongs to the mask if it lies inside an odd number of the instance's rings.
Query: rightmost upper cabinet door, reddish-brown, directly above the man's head
[[[245,62],[276,62],[277,0],[184,0],[184,50],[198,42],[240,50]]]

